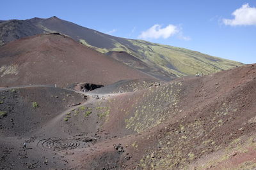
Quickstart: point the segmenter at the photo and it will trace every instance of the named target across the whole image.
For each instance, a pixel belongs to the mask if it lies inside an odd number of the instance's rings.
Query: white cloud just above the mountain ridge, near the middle
[[[147,31],[141,32],[138,38],[142,39],[158,39],[158,38],[169,38],[173,34],[179,32],[179,29],[175,25],[168,25],[166,27],[161,28],[161,25],[155,24],[150,27]]]

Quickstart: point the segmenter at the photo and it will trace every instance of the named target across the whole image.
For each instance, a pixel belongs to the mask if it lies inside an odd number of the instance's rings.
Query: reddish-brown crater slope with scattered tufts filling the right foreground
[[[90,116],[100,115],[101,131],[116,138],[70,158],[87,169],[253,169],[255,72],[250,65],[102,97]]]

